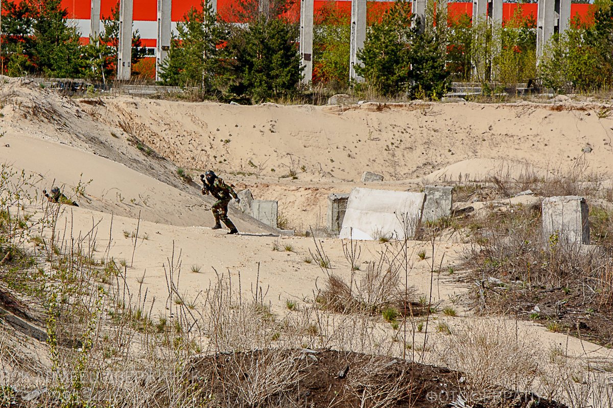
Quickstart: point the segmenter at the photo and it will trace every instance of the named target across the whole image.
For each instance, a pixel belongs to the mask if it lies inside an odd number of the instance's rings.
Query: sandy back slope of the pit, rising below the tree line
[[[394,190],[509,166],[542,174],[579,157],[590,171],[613,172],[613,115],[590,102],[236,106],[120,96],[91,105],[13,78],[0,84],[0,102],[7,135],[65,143],[191,195],[175,164],[193,176],[213,168],[256,198],[277,199],[299,229],[322,224],[327,195],[350,191],[365,170]]]

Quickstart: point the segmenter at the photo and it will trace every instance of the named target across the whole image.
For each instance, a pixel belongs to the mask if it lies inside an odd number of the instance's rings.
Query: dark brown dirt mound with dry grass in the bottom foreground
[[[462,398],[462,375],[447,368],[328,349],[200,357],[189,376],[219,406],[446,407]],[[473,407],[564,407],[513,391]]]

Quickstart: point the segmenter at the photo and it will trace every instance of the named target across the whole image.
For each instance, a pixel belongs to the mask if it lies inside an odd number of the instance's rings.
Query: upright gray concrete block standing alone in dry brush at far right
[[[557,236],[560,243],[589,244],[590,223],[585,198],[549,197],[543,200],[543,239],[547,243]]]

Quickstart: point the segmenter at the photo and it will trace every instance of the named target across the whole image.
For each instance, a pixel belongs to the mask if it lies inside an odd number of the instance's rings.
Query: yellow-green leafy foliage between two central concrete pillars
[[[313,83],[337,90],[349,85],[349,23],[335,3],[324,3],[314,24]]]

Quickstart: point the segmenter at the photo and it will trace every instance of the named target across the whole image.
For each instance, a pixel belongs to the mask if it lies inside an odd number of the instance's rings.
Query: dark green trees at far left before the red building
[[[8,75],[108,80],[114,75],[119,34],[119,6],[103,19],[100,39],[80,45],[61,0],[2,2],[2,51]],[[132,39],[132,66],[145,56],[138,31]],[[138,72],[135,72],[136,74]]]

